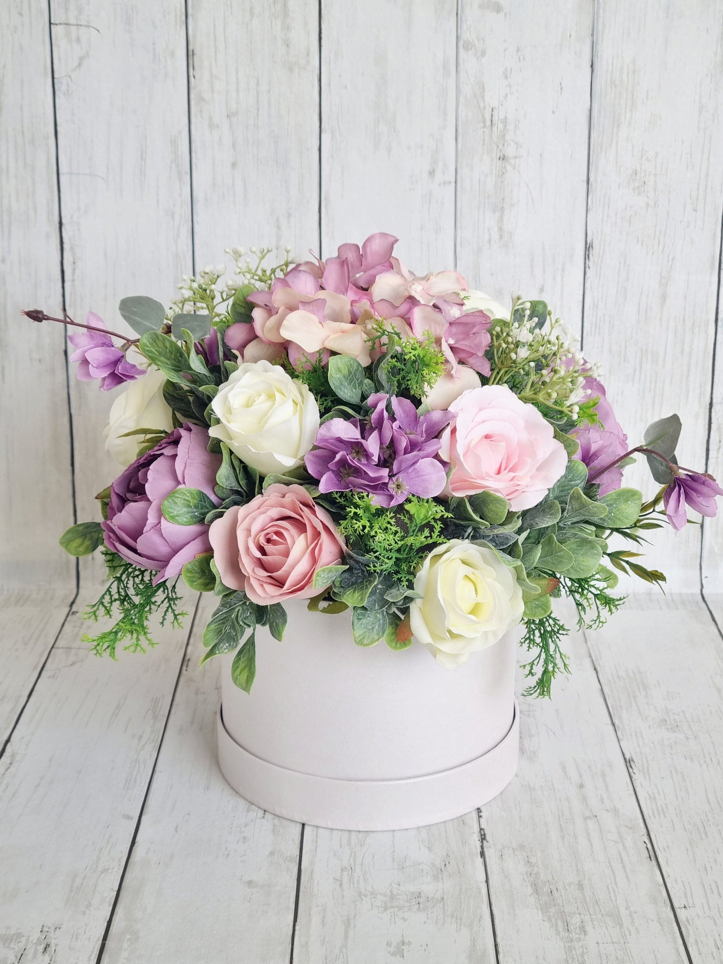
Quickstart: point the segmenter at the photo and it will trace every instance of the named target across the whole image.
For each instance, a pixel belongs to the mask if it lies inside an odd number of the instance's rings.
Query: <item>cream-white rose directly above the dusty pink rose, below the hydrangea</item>
[[[262,475],[300,466],[319,431],[319,408],[307,386],[265,360],[240,364],[212,408],[220,424],[208,434]]]

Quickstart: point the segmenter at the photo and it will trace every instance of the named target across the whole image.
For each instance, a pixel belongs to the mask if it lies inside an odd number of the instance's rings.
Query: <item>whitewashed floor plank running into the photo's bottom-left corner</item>
[[[95,959],[181,665],[184,632],[115,663],[83,629],[75,611],[0,759],[3,964]]]

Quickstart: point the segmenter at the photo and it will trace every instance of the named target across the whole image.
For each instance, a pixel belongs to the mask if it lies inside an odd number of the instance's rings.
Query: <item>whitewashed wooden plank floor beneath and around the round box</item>
[[[522,701],[507,790],[362,834],[228,788],[212,601],[115,664],[79,642],[92,596],[2,597],[0,964],[723,960],[719,598],[636,597],[573,634],[574,675]]]

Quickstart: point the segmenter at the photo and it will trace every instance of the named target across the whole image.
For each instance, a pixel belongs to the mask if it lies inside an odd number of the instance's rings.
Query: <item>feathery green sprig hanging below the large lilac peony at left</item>
[[[155,646],[148,627],[148,617],[153,613],[160,613],[161,626],[171,620],[172,627],[180,629],[187,613],[179,609],[181,600],[175,588],[176,579],[154,586],[156,574],[151,570],[132,566],[110,549],[103,549],[103,555],[111,581],[100,599],[86,609],[84,618],[97,623],[101,617],[113,619],[117,610],[120,619],[97,636],[83,636],[83,642],[93,644],[97,656],[107,653],[115,659],[118,646],[126,640],[123,649],[133,653],[145,653],[146,646]]]

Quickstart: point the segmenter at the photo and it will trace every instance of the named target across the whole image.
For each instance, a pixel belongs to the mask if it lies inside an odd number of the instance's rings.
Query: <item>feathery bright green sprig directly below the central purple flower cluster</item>
[[[434,499],[410,495],[401,505],[385,509],[372,505],[365,493],[338,493],[335,498],[342,513],[339,530],[368,557],[370,572],[393,574],[402,585],[410,585],[426,554],[446,542],[442,524],[448,513]]]

